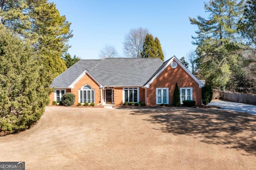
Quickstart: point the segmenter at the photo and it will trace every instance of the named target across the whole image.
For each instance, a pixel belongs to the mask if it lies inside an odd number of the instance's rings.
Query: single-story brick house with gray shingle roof
[[[202,104],[204,85],[175,56],[165,62],[158,58],[80,60],[54,79],[50,105],[62,101],[68,92],[76,95],[74,105],[172,104],[176,82],[181,103],[194,100],[196,105]]]

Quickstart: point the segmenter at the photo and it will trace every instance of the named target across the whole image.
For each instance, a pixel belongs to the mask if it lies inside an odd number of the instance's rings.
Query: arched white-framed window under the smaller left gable
[[[80,103],[94,103],[94,89],[89,85],[85,85],[79,90],[79,102]]]

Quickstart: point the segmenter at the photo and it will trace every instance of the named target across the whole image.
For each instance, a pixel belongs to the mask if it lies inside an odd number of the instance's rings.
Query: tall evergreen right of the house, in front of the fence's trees
[[[198,75],[215,88],[226,88],[233,69],[242,66],[237,49],[238,41],[237,22],[241,17],[243,0],[210,0],[205,3],[206,12],[210,12],[208,19],[198,16],[190,18],[191,24],[198,26],[197,37],[192,42],[198,45],[197,66]]]

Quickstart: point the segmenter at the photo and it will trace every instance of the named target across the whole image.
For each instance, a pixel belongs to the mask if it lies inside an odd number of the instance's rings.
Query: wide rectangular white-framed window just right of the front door
[[[124,102],[139,102],[139,89],[138,88],[124,88],[123,89],[123,103]]]

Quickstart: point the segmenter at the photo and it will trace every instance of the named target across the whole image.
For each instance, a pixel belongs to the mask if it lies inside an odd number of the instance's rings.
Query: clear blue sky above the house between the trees
[[[68,52],[81,59],[99,59],[104,45],[112,45],[120,57],[124,37],[131,28],[147,28],[160,40],[165,60],[179,59],[196,49],[191,36],[196,26],[188,17],[207,17],[205,0],[49,0],[71,22],[73,38]],[[208,2],[208,1],[206,1]]]

